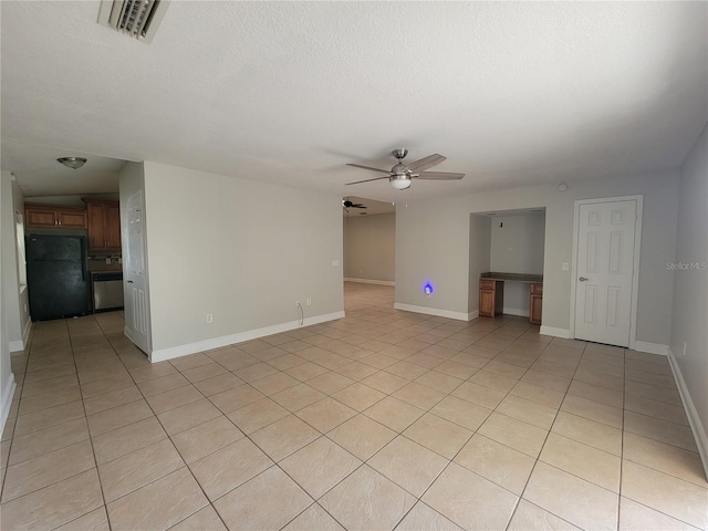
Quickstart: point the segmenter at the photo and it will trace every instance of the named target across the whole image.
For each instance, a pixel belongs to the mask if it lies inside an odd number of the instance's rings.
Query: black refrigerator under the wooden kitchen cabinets
[[[91,313],[84,236],[29,235],[27,283],[32,321]]]

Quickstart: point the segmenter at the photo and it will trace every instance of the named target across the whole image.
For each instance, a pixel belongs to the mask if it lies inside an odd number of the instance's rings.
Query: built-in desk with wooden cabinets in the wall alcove
[[[541,324],[543,275],[525,273],[499,273],[490,271],[479,275],[479,315],[496,317],[503,313],[504,282],[522,282],[529,285],[529,322]]]

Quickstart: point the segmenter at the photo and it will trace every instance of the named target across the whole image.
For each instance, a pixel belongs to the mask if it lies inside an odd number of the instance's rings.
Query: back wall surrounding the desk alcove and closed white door
[[[568,331],[573,283],[561,264],[573,259],[574,201],[638,194],[644,195],[644,223],[636,336],[668,345],[673,273],[665,263],[674,256],[678,171],[571,181],[564,192],[541,185],[408,201],[396,212],[396,302],[467,312],[469,214],[545,207],[543,324]],[[438,280],[437,296],[427,301],[419,294],[425,277]]]

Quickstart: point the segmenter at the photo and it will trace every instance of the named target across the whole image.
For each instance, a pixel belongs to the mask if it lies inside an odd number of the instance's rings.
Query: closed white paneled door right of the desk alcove
[[[580,205],[575,337],[629,346],[637,201]]]

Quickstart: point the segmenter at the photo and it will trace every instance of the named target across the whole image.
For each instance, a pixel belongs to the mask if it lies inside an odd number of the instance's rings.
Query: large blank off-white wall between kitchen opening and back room
[[[341,197],[144,168],[154,358],[293,325],[295,301],[305,322],[342,316]]]

